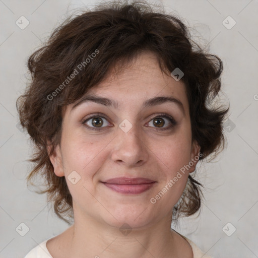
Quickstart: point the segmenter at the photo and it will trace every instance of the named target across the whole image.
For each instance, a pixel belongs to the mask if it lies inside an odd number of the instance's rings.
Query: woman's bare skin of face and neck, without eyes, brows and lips
[[[73,197],[74,224],[48,240],[54,258],[193,257],[188,242],[170,226],[173,207],[197,163],[181,173],[160,200],[150,202],[200,152],[199,145],[192,143],[185,87],[181,80],[161,72],[151,52],[143,52],[131,64],[89,92],[118,101],[119,108],[88,101],[64,110],[60,145],[50,159],[56,176],[66,177]],[[173,102],[142,108],[145,100],[157,96],[180,100],[184,113]],[[87,129],[82,122],[97,112],[105,115],[103,129]],[[160,127],[153,124],[153,118],[161,117],[160,113],[172,116],[177,124],[168,128],[171,122],[162,117],[161,128],[168,130],[155,131]],[[124,119],[132,124],[127,133],[119,127]],[[94,127],[92,121],[87,125]],[[68,180],[72,171],[81,176],[76,184]],[[138,195],[125,195],[100,182],[121,176],[145,177],[157,183]],[[132,228],[127,235],[119,230],[124,223]]]

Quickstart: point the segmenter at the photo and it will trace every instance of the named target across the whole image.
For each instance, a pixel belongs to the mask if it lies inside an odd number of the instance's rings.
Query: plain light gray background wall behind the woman
[[[95,3],[0,0],[0,257],[24,257],[68,227],[47,206],[44,195],[27,188],[26,159],[32,149],[28,135],[17,127],[15,103],[26,85],[28,56],[72,10]],[[221,97],[230,103],[227,148],[198,168],[207,188],[201,214],[181,219],[180,228],[174,229],[213,257],[258,257],[258,2],[164,0],[163,4],[193,28],[194,39],[222,58]],[[29,21],[23,30],[16,25],[21,16]],[[233,20],[225,20],[228,16],[236,22],[231,29]],[[29,227],[25,236],[16,231],[22,222]],[[227,223],[231,224],[224,227]]]

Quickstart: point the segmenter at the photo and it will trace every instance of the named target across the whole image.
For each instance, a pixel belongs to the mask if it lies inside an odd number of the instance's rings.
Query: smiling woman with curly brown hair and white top
[[[28,60],[17,102],[57,216],[74,223],[26,258],[210,257],[171,229],[201,207],[190,173],[224,146],[222,62],[146,2],[102,4]]]

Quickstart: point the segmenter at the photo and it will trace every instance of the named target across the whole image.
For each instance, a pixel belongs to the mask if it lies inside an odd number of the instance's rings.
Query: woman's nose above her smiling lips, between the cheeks
[[[128,132],[118,127],[113,143],[112,160],[126,167],[142,166],[149,157],[149,149],[145,139],[140,128],[136,125],[133,125]]]

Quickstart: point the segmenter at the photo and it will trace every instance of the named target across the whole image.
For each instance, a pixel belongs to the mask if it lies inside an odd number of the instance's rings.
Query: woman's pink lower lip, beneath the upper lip
[[[137,193],[142,193],[150,189],[155,182],[144,184],[112,184],[103,182],[103,184],[113,191],[136,195]]]

